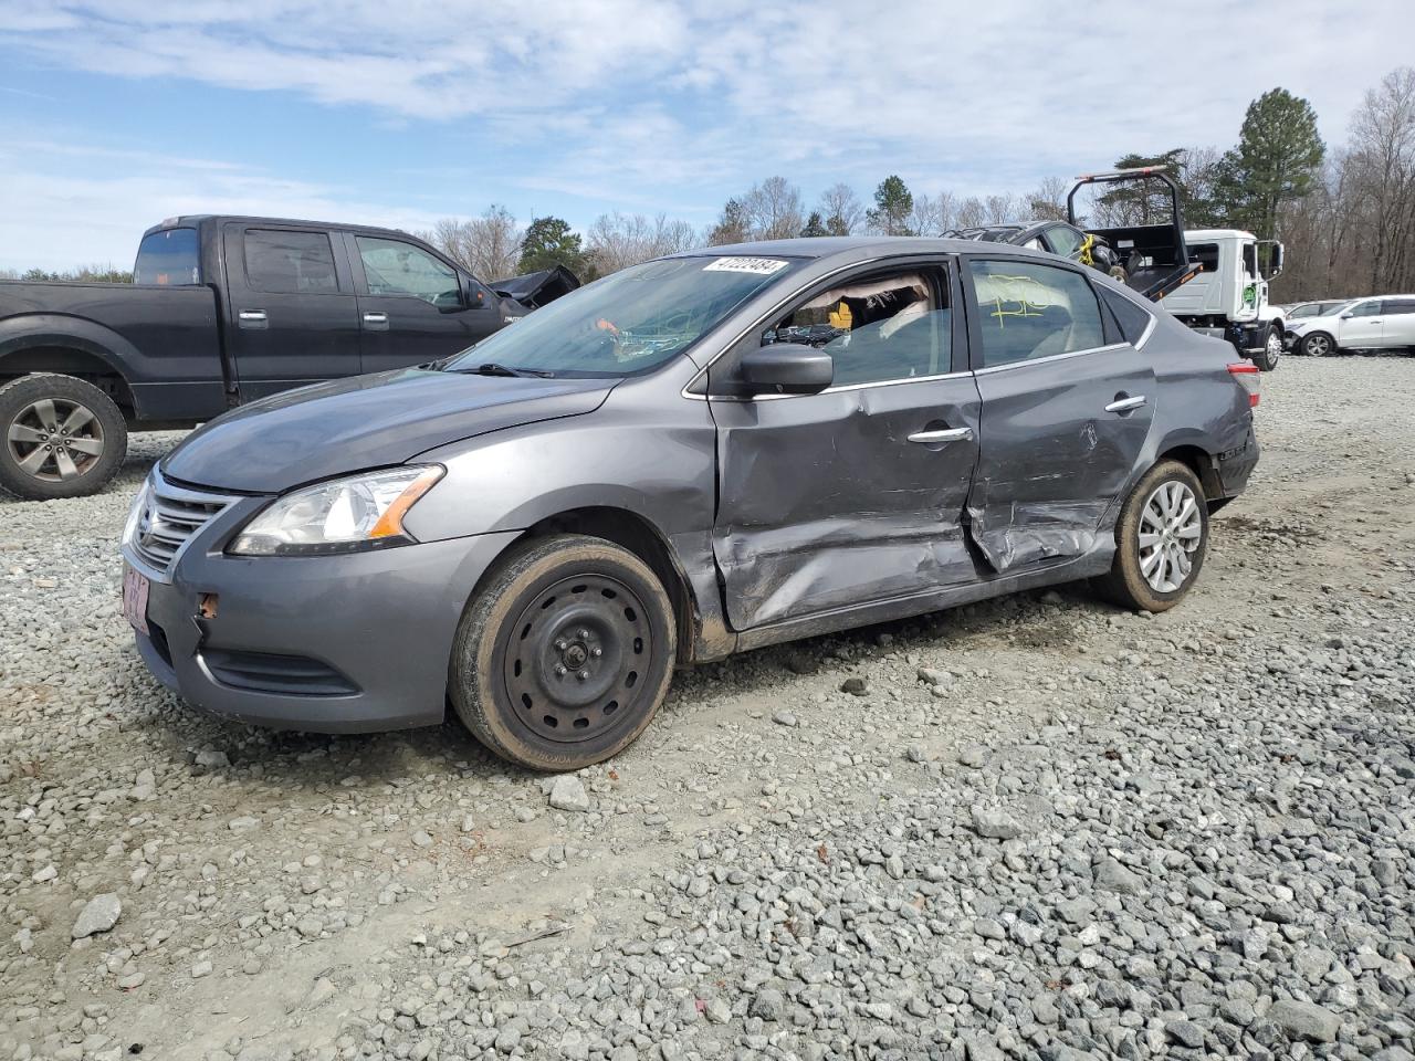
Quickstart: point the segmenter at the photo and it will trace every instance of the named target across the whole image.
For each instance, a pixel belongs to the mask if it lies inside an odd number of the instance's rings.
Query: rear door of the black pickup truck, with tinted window
[[[358,303],[330,232],[228,221],[226,352],[249,402],[359,372]]]

